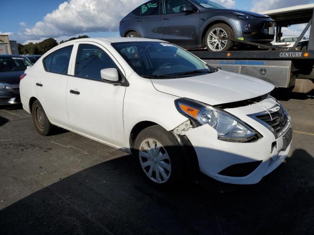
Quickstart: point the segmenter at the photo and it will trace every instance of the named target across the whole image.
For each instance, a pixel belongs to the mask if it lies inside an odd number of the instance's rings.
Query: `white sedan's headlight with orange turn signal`
[[[187,98],[175,100],[177,110],[192,120],[194,125],[209,124],[223,141],[246,142],[256,136],[256,132],[235,116]]]

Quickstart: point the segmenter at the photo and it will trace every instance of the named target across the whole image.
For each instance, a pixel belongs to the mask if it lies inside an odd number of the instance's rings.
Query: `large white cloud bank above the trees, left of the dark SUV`
[[[26,28],[24,32],[15,33],[12,36],[18,41],[25,42],[27,40],[73,36],[88,32],[118,31],[120,20],[145,1],[65,1],[57,9],[47,14],[42,21],[37,22],[32,27]]]

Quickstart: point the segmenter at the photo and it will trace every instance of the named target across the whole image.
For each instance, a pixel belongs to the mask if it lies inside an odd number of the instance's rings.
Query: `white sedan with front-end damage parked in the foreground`
[[[158,185],[199,171],[258,183],[290,149],[291,119],[273,85],[164,41],[74,40],[25,73],[23,107],[41,135],[55,125],[132,153]]]

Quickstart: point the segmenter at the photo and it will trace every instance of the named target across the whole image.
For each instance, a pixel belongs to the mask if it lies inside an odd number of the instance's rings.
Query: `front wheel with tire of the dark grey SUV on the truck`
[[[227,24],[214,24],[206,33],[205,45],[209,51],[225,51],[234,47],[228,38],[234,38],[234,32]]]

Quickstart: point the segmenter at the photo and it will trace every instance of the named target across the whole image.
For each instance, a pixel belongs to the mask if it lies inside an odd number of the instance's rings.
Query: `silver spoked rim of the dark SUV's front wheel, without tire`
[[[210,50],[220,51],[227,45],[227,33],[222,28],[213,28],[209,32],[207,42]]]

